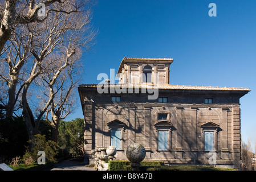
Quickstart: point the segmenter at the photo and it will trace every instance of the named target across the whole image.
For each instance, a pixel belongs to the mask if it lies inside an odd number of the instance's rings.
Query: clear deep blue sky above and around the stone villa
[[[210,17],[209,3],[217,16]],[[96,44],[83,57],[83,84],[119,68],[123,57],[173,58],[170,84],[250,88],[241,98],[242,139],[256,143],[255,0],[99,0]],[[80,102],[80,101],[79,101]],[[83,118],[79,104],[66,120]]]

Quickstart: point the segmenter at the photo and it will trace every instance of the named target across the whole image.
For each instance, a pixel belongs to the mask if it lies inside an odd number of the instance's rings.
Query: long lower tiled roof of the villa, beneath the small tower
[[[103,84],[100,84],[103,86]],[[110,88],[115,86],[120,86],[120,84],[110,84]],[[97,84],[83,84],[79,85],[79,87],[91,87],[96,88]],[[127,85],[128,88],[128,85]],[[138,86],[133,86],[133,88],[147,88],[147,85],[140,84]],[[250,91],[249,88],[234,88],[234,87],[219,87],[219,86],[186,86],[186,85],[155,85],[154,87],[149,86],[149,88],[158,88],[158,89],[169,89],[169,90],[227,90],[227,91]]]

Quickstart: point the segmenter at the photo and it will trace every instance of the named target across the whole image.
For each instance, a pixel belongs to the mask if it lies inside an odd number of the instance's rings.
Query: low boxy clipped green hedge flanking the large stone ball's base
[[[131,162],[129,160],[110,160],[108,162],[108,170],[109,171],[132,171]],[[164,166],[164,162],[162,161],[147,161],[144,160],[140,163],[141,171],[146,171],[147,168],[152,166]]]

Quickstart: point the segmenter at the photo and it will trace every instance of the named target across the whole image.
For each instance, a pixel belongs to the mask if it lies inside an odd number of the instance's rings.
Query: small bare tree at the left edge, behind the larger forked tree
[[[17,28],[17,32],[11,36],[9,42],[3,48],[0,59],[0,80],[6,85],[2,87],[8,93],[5,102],[2,101],[2,109],[6,110],[6,117],[13,117],[14,107],[18,100],[19,93],[23,88],[22,77],[24,76],[24,64],[29,62],[32,55],[29,52],[31,35],[24,28]],[[19,89],[17,90],[17,85]],[[1,94],[3,96],[3,93]]]

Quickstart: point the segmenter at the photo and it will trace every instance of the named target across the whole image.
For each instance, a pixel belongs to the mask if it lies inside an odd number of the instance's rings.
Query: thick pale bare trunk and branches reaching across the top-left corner
[[[72,4],[72,9],[56,9],[52,8],[51,5],[56,3],[62,4],[70,2]],[[85,1],[88,3],[89,1]],[[2,52],[7,40],[10,39],[12,32],[15,30],[16,24],[28,24],[32,22],[43,22],[48,18],[48,15],[52,12],[62,12],[62,13],[73,13],[78,12],[80,7],[85,5],[83,1],[61,1],[61,0],[5,0],[1,1],[1,28],[0,28],[0,52]],[[40,4],[41,3],[41,4]],[[50,7],[43,18],[38,17],[38,11],[43,5],[47,8]],[[56,6],[55,6],[56,7]]]

